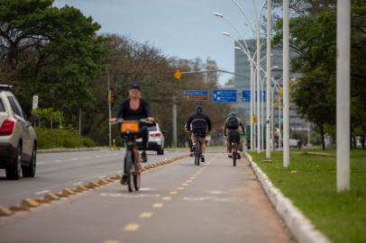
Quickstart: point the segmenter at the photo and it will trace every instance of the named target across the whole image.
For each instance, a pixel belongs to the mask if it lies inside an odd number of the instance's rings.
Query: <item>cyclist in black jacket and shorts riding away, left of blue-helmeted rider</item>
[[[191,131],[192,130],[192,135],[191,135],[191,139],[192,139],[192,150],[194,150],[196,144],[195,144],[195,133],[199,134],[199,137],[201,138],[202,141],[202,157],[201,157],[201,161],[205,162],[205,153],[206,153],[206,134],[211,130],[211,121],[208,118],[208,116],[206,116],[206,114],[204,114],[202,112],[203,107],[202,105],[197,105],[196,106],[196,112],[191,114],[188,118],[187,121],[187,130]],[[192,154],[191,154],[192,156]]]

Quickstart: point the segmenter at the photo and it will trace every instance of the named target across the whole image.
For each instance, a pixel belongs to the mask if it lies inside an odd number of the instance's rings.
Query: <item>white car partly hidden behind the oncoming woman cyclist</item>
[[[164,154],[164,133],[160,130],[160,126],[158,123],[155,123],[154,126],[148,127],[149,130],[149,140],[147,145],[147,150],[157,151],[158,155]],[[142,148],[142,139],[137,139],[138,147]]]

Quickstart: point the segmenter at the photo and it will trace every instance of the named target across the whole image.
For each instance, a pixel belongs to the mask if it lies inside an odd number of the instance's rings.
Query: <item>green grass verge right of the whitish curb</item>
[[[335,150],[331,156],[290,151],[290,166],[282,166],[282,153],[273,152],[272,162],[263,162],[265,153],[250,152],[270,181],[284,193],[317,229],[334,242],[366,242],[366,150],[351,152],[351,191],[336,192]]]

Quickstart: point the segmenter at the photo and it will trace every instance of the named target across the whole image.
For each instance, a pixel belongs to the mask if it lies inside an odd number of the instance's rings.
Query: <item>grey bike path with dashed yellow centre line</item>
[[[213,153],[203,166],[188,157],[143,173],[137,193],[117,182],[1,217],[0,242],[282,243],[293,238],[247,161],[233,167],[224,154]]]

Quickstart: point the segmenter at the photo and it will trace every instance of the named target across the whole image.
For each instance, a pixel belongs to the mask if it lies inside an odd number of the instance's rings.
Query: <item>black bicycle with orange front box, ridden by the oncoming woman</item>
[[[136,139],[140,132],[140,122],[151,123],[144,119],[140,121],[124,121],[118,119],[121,124],[121,134],[124,137],[126,152],[124,156],[124,172],[127,176],[128,191],[133,192],[133,186],[136,191],[140,190],[142,166],[140,154],[138,152]]]

